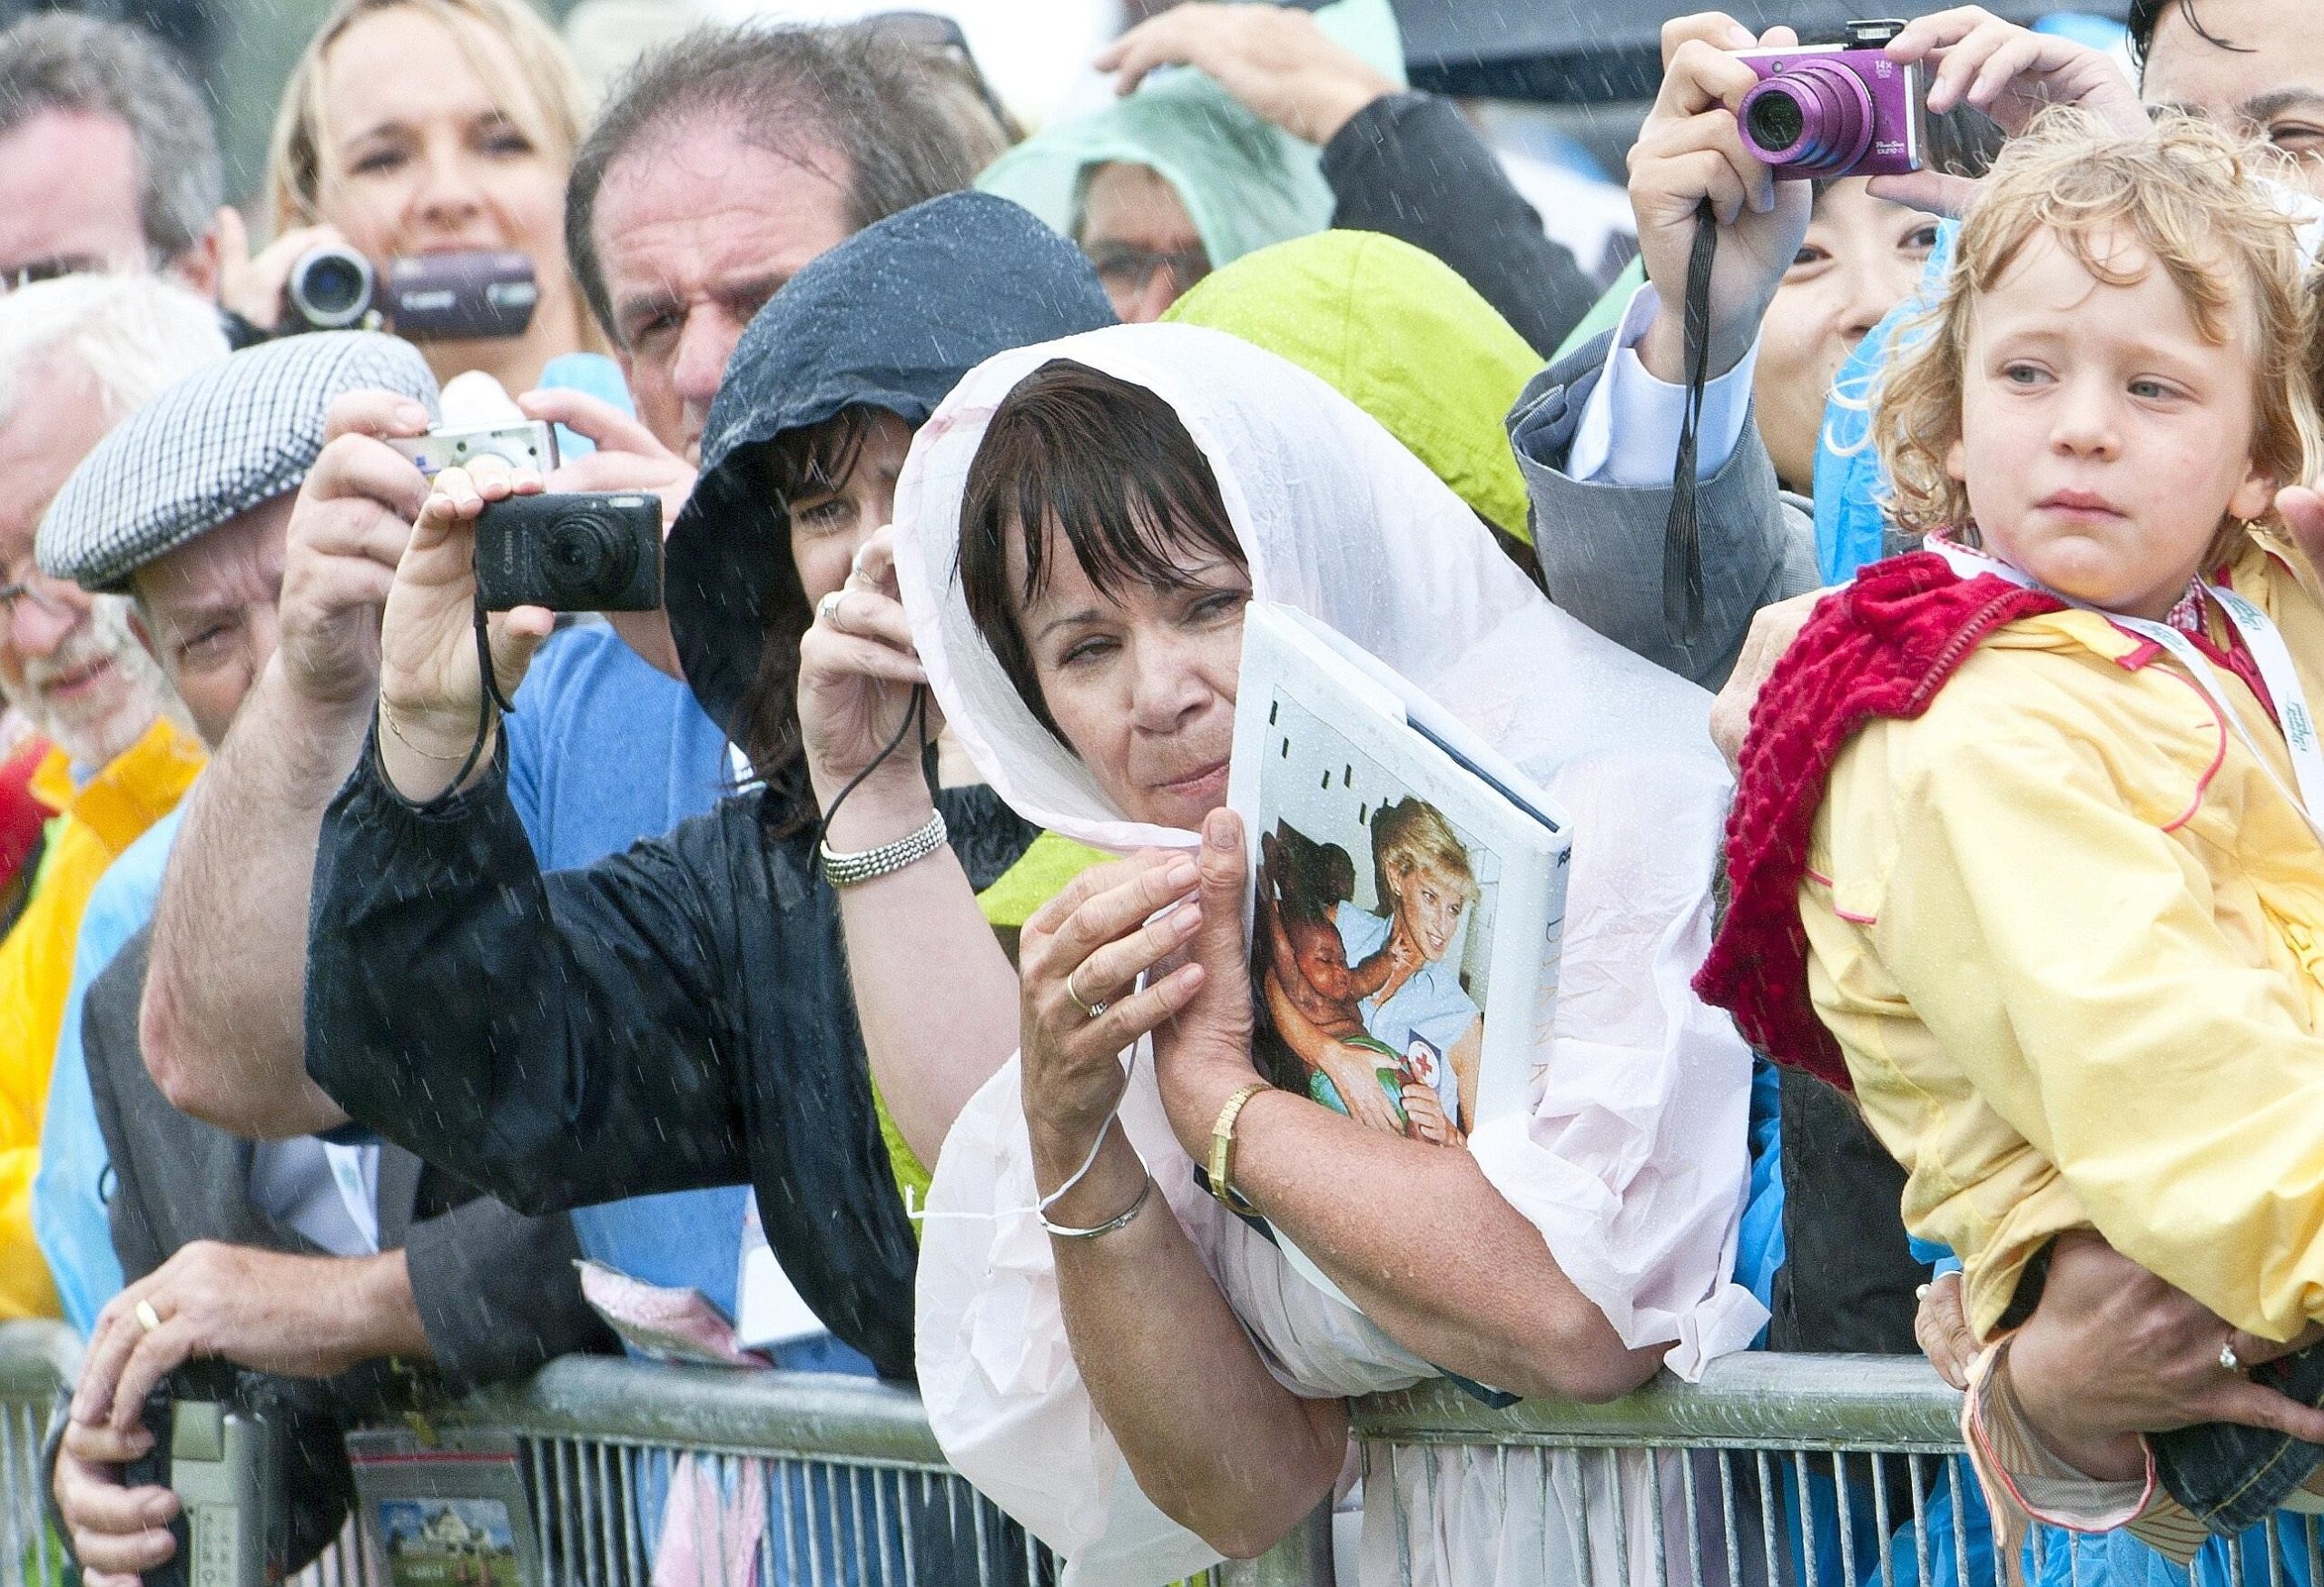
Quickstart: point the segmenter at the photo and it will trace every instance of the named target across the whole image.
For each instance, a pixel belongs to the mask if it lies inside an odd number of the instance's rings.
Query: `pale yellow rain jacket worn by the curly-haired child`
[[[2231,586],[2324,699],[2305,565]],[[1980,1336],[2082,1225],[2236,1327],[2324,1320],[2324,848],[2178,660],[2087,611],[1996,630],[1848,744],[1808,871],[1808,994]]]

